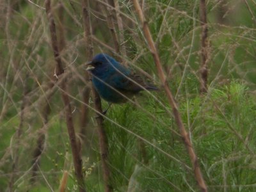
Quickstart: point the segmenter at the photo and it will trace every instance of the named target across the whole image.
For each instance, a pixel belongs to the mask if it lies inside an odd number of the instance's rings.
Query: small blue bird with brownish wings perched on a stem
[[[108,102],[122,103],[127,101],[125,97],[131,98],[142,90],[158,90],[108,54],[97,54],[86,66],[92,74],[93,86]]]

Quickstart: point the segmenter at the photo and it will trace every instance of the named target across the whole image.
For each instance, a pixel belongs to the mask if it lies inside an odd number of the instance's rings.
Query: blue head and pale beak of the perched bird
[[[86,63],[86,70],[94,76],[101,76],[104,72],[114,69],[117,61],[108,54],[97,54],[92,61]]]

